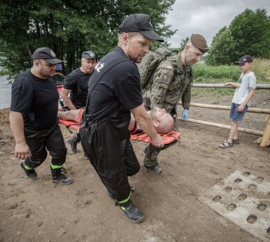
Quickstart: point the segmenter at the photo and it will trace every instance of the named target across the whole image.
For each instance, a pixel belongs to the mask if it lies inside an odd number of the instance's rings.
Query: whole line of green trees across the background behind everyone
[[[93,50],[100,58],[118,41],[118,26],[125,16],[143,12],[152,16],[154,30],[166,40],[176,30],[165,24],[175,0],[100,0],[100,1],[18,1],[0,2],[0,59],[2,75],[13,79],[32,66],[33,51],[52,48],[63,59],[64,73],[80,66],[83,51]],[[203,34],[203,33],[202,33]],[[181,51],[188,41],[179,41]],[[155,49],[161,44],[154,42]],[[265,9],[246,9],[230,26],[224,26],[213,38],[206,63],[234,64],[242,55],[270,58],[270,17]]]

